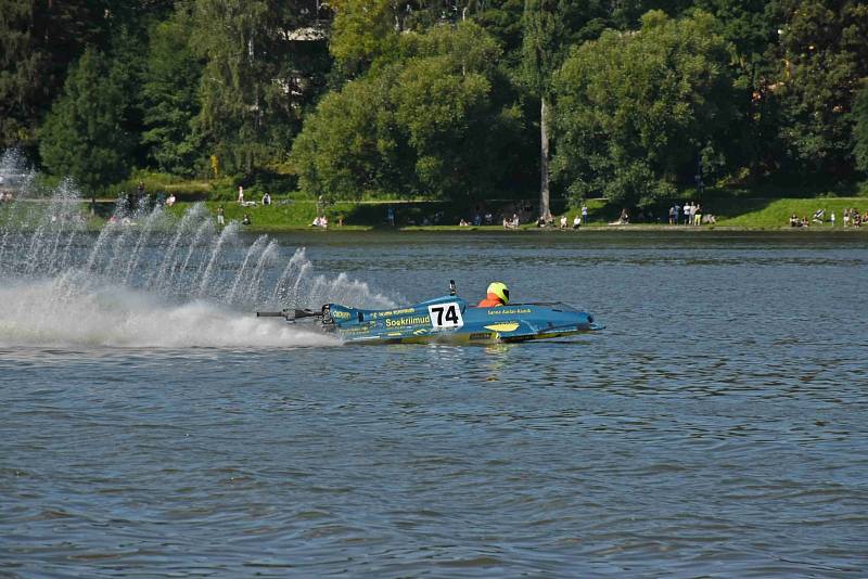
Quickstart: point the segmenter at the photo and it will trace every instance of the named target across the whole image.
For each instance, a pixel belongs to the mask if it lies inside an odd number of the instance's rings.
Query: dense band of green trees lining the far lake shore
[[[855,0],[0,0],[0,141],[311,196],[607,196],[868,172]]]

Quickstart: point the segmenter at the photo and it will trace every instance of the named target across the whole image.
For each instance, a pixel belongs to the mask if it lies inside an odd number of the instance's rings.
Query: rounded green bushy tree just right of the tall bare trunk
[[[729,47],[713,16],[649,12],[635,33],[577,47],[556,79],[556,175],[572,195],[633,206],[692,180],[736,117]]]

